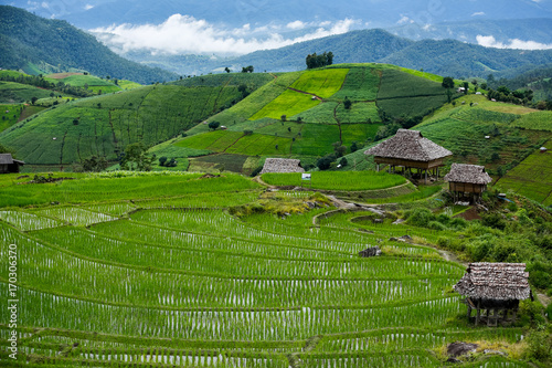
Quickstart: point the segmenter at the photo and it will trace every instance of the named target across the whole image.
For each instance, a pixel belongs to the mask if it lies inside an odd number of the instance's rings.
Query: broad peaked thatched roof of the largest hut
[[[448,149],[424,138],[418,130],[407,129],[399,129],[395,136],[365,150],[364,154],[413,161],[432,161],[453,155]]]

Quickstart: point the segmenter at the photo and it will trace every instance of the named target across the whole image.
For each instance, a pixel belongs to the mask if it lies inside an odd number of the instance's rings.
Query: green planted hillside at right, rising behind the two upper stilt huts
[[[468,95],[447,104],[415,129],[454,153],[456,162],[503,175],[552,138],[548,112]],[[543,128],[544,127],[544,128]]]

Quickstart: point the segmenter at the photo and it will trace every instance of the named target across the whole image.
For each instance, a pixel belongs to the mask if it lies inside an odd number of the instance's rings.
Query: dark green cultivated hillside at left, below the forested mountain
[[[232,83],[145,86],[53,106],[4,130],[0,143],[31,165],[66,166],[93,155],[116,160],[128,144],[162,143],[242,97]]]

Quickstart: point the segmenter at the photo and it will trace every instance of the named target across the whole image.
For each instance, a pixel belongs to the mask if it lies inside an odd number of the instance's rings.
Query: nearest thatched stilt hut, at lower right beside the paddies
[[[524,263],[477,262],[469,264],[454,290],[466,296],[463,303],[468,306],[468,319],[476,309],[476,325],[486,320],[488,326],[497,326],[510,313],[510,320],[516,319],[519,301],[533,298],[528,278]]]

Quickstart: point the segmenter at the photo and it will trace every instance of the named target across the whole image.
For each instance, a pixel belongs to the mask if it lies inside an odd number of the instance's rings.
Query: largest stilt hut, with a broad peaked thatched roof
[[[364,151],[365,155],[374,156],[378,165],[389,165],[389,171],[394,171],[395,167],[403,167],[408,171],[413,168],[427,172],[433,171],[438,178],[438,168],[444,166],[445,157],[453,153],[439,145],[424,138],[418,130],[399,129],[396,135],[382,141],[375,147]]]

